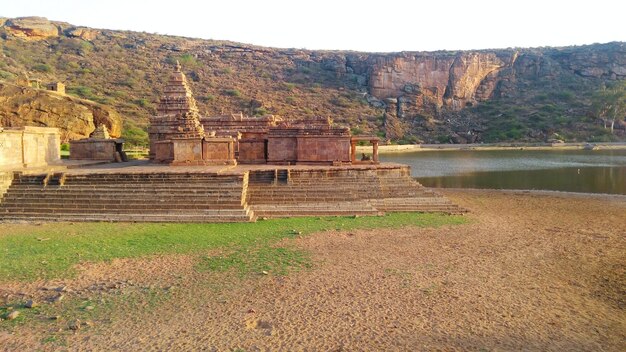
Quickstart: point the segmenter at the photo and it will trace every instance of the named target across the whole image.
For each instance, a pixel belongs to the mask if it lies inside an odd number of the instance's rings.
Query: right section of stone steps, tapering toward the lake
[[[251,171],[248,203],[257,216],[466,212],[414,181],[408,169],[285,171]]]

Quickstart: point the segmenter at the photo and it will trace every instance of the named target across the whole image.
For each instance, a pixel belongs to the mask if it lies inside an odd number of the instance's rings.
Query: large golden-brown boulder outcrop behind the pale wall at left
[[[61,140],[87,138],[98,125],[112,137],[122,133],[122,119],[106,106],[64,94],[0,82],[0,125],[57,127]]]

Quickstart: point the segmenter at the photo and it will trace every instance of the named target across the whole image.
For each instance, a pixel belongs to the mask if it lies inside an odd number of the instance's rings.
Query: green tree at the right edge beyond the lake
[[[603,86],[591,100],[593,114],[604,122],[604,128],[610,128],[613,133],[615,121],[626,116],[626,82]]]

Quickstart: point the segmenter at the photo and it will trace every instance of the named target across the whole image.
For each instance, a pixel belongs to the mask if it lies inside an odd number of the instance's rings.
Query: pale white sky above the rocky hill
[[[370,52],[626,41],[625,13],[623,0],[0,0],[0,17]]]

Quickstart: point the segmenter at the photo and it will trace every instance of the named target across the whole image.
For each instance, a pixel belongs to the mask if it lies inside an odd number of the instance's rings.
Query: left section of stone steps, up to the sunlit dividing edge
[[[248,222],[248,174],[16,174],[0,220]]]

